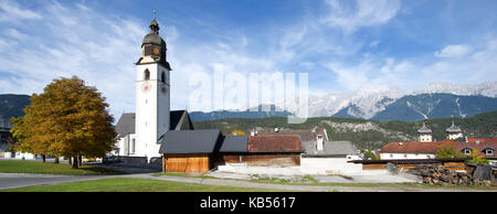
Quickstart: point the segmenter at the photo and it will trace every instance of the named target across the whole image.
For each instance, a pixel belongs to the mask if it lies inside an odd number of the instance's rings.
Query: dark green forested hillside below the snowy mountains
[[[445,139],[445,129],[451,126],[451,118],[427,119],[426,126],[433,130],[435,140]],[[250,133],[253,130],[281,129],[313,129],[325,128],[330,140],[349,140],[359,149],[378,149],[392,141],[415,141],[417,129],[423,121],[373,121],[363,119],[318,117],[309,118],[306,122],[288,124],[286,117],[269,118],[230,118],[210,121],[194,121],[195,129],[221,129],[224,135],[233,130]],[[454,118],[465,135],[472,138],[491,138],[497,136],[497,111],[476,115],[469,118]]]

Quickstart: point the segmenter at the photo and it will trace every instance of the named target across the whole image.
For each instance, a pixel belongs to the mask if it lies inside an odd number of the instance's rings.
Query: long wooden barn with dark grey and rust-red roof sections
[[[220,130],[168,131],[161,143],[163,172],[205,173],[216,165],[300,165],[299,136],[222,136]]]

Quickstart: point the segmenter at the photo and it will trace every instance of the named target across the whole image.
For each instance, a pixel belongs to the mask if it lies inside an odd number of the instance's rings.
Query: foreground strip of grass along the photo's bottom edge
[[[0,192],[281,192],[279,190],[204,185],[152,179],[101,179],[53,185],[1,190]]]

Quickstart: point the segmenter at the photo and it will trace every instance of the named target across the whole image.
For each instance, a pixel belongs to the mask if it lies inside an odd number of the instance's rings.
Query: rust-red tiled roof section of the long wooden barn
[[[248,136],[248,152],[302,152],[298,135]]]

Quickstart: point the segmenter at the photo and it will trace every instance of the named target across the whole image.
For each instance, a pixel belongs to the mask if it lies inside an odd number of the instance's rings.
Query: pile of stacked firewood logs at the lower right
[[[443,165],[420,165],[423,183],[431,185],[490,185],[490,181],[473,179],[470,174],[453,172]]]

